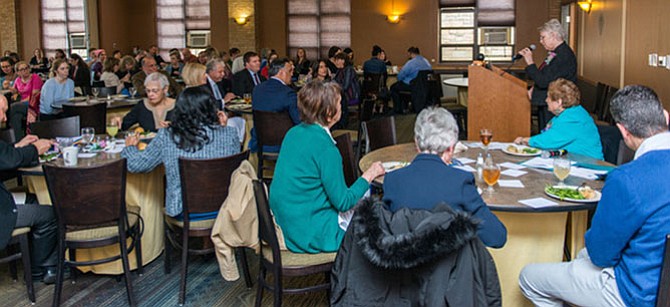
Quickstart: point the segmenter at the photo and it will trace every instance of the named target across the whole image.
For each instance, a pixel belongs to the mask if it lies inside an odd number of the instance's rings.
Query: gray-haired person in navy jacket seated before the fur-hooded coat
[[[507,229],[491,213],[477,192],[474,176],[453,167],[458,125],[443,108],[421,111],[414,124],[419,154],[404,168],[386,174],[384,201],[393,212],[402,208],[431,210],[446,203],[480,220],[478,236],[484,245],[499,248],[507,241]]]

